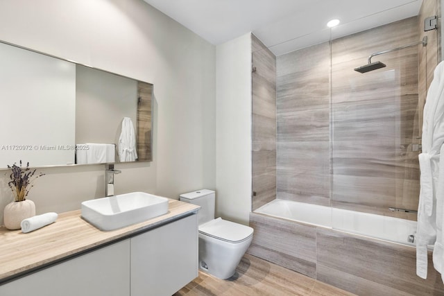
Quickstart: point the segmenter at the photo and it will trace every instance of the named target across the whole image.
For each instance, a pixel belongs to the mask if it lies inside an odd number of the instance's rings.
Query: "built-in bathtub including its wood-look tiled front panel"
[[[416,221],[273,200],[250,212],[248,254],[357,295],[444,295],[429,252],[416,275]]]

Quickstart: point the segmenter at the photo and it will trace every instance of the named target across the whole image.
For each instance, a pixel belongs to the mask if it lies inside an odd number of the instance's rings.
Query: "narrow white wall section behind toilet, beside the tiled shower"
[[[216,216],[251,211],[251,36],[216,46]]]

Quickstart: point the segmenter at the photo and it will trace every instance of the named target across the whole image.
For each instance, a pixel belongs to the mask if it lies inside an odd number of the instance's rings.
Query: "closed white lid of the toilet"
[[[217,218],[199,225],[199,232],[214,238],[221,238],[224,241],[237,243],[244,241],[253,234],[253,228]]]

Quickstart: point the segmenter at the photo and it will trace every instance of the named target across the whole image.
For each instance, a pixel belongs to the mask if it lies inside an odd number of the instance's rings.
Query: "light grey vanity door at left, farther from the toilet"
[[[1,296],[130,295],[130,240],[0,286]]]

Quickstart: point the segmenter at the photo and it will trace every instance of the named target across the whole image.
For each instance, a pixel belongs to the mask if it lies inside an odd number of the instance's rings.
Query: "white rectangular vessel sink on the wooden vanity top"
[[[114,230],[167,214],[168,198],[144,192],[82,202],[82,217],[101,230]]]

